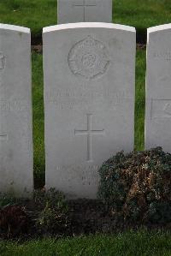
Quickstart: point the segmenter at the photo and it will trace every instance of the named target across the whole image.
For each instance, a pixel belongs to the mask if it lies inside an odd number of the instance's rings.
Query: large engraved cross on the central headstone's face
[[[86,130],[74,130],[75,135],[86,135],[87,136],[87,161],[92,162],[92,135],[104,135],[103,130],[92,129],[92,115],[87,114],[87,129]]]

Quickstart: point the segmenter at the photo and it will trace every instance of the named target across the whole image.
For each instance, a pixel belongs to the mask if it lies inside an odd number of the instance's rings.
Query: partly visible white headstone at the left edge
[[[0,192],[29,197],[33,188],[31,35],[0,24]]]

